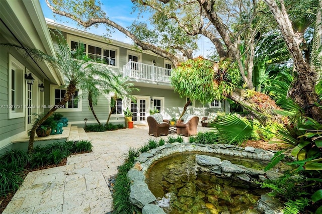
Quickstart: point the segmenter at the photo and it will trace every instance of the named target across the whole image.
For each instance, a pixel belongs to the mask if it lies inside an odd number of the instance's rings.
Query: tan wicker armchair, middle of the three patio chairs
[[[190,137],[191,135],[197,135],[197,126],[199,118],[194,115],[186,114],[182,117],[181,122],[177,122],[177,135],[184,135]]]

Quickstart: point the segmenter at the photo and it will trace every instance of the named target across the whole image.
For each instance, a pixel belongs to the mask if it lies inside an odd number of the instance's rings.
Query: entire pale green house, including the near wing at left
[[[39,1],[0,1],[0,43],[13,43],[36,48],[53,55],[54,41],[48,28],[58,29],[65,36],[70,48],[79,42],[86,45],[89,57],[103,59],[116,73],[128,76],[128,81],[139,91],[134,91],[135,101],[117,100],[110,123],[124,124],[124,110],[133,113],[134,124],[146,124],[149,110],[158,109],[164,118],[179,117],[189,97],[180,97],[171,87],[172,64],[150,51],[137,51],[132,45],[69,28],[45,20]],[[0,46],[0,151],[11,148],[12,141],[27,136],[35,114],[49,111],[64,95],[64,78],[57,71],[36,59],[26,56],[23,50]],[[83,98],[76,96],[83,94]],[[114,94],[102,96],[95,112],[104,123],[111,111]],[[192,101],[188,113],[199,117],[208,112],[229,111],[228,102],[214,100],[203,106]],[[75,97],[57,112],[67,117],[69,124],[84,126],[96,123],[86,94],[78,89]]]

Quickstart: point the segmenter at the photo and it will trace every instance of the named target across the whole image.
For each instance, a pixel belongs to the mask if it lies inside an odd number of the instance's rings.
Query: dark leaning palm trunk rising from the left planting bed
[[[28,153],[32,153],[34,149],[36,129],[40,126],[40,124],[42,124],[45,120],[47,120],[59,108],[59,106],[65,105],[70,100],[70,98],[75,93],[75,91],[76,91],[76,85],[74,85],[73,83],[70,83],[67,87],[67,91],[64,95],[64,98],[60,102],[55,104],[53,108],[46,115],[44,115],[43,118],[41,118],[37,123],[35,123],[32,126],[30,131],[30,137],[29,137]]]

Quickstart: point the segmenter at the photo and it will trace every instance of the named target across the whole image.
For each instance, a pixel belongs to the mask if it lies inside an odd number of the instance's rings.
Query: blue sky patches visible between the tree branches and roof
[[[66,25],[68,27],[88,31],[96,35],[103,36],[104,34],[106,34],[106,27],[104,25],[100,25],[99,28],[91,27],[85,30],[84,28],[77,26],[77,24],[69,18],[59,16],[56,16],[56,18],[54,18],[54,13],[48,8],[45,0],[39,0],[39,2],[45,18],[54,20],[55,22],[62,25]],[[101,2],[103,3],[102,9],[105,11],[107,16],[122,27],[128,27],[132,24],[134,20],[137,20],[137,12],[135,12],[134,14],[132,13],[133,4],[131,0],[101,0]],[[143,14],[143,18],[142,16],[140,16],[140,19],[147,18],[148,14]],[[117,30],[111,34],[110,39],[125,42],[128,44],[133,44],[130,38],[126,37],[123,33]],[[212,45],[209,41],[207,41],[207,39],[200,39],[198,41],[198,45],[199,50],[194,53],[194,56],[202,55],[206,57],[210,51],[207,47],[212,47]]]

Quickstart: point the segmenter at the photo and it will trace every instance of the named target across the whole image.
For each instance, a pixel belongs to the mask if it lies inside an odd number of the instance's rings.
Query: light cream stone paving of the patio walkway
[[[86,139],[93,152],[71,155],[66,166],[30,172],[16,192],[4,214],[13,213],[107,213],[113,210],[108,179],[124,163],[129,148],[139,148],[149,139],[148,126],[101,133],[84,133],[72,139]],[[198,126],[198,131],[209,130]],[[170,135],[177,137],[177,135]],[[188,142],[187,137],[183,137]]]

